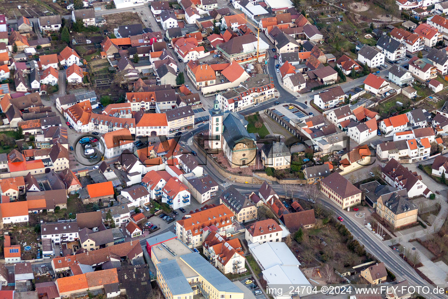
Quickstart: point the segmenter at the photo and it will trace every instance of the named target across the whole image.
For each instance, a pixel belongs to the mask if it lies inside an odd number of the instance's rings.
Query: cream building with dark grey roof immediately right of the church
[[[284,142],[271,142],[264,144],[261,149],[263,166],[274,169],[285,169],[291,167],[291,152]]]

